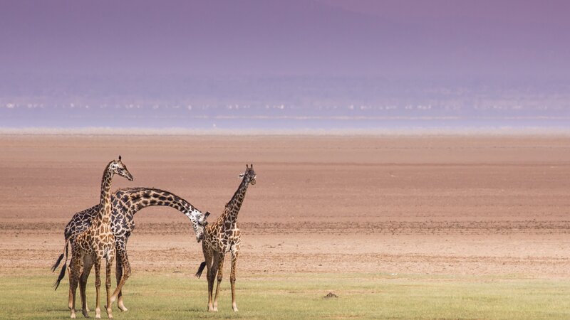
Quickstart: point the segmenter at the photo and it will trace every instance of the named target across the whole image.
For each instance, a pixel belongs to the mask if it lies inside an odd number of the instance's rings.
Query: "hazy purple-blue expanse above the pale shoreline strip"
[[[569,14],[570,0],[0,0],[0,127],[568,127]],[[226,124],[340,125],[248,121]]]

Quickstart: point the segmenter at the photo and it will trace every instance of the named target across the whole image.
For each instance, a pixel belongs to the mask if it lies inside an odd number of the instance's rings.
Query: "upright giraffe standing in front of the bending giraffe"
[[[83,269],[83,262],[89,261],[95,264],[95,292],[96,292],[96,306],[95,318],[100,319],[101,309],[99,305],[99,289],[101,286],[100,269],[101,260],[105,258],[106,272],[105,272],[105,288],[107,289],[107,315],[113,318],[111,311],[111,304],[117,298],[120,288],[123,287],[124,279],[121,279],[117,289],[110,295],[111,287],[111,264],[115,259],[115,235],[111,231],[111,182],[113,175],[118,174],[133,181],[133,176],[127,170],[127,167],[120,159],[110,161],[101,179],[101,194],[100,194],[100,209],[93,219],[93,223],[83,233],[77,236],[76,240],[71,245],[71,262],[69,263],[69,309],[71,309],[71,318],[76,317],[76,290],[79,282],[79,277]],[[88,317],[86,310],[86,301],[83,299],[83,316]]]

